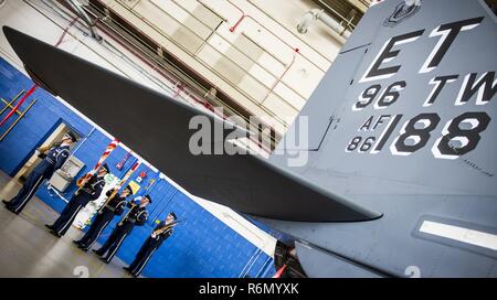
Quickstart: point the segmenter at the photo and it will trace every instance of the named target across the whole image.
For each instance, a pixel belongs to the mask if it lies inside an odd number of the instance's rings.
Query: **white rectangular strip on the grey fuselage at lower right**
[[[443,223],[424,221],[420,232],[497,250],[497,235]]]

